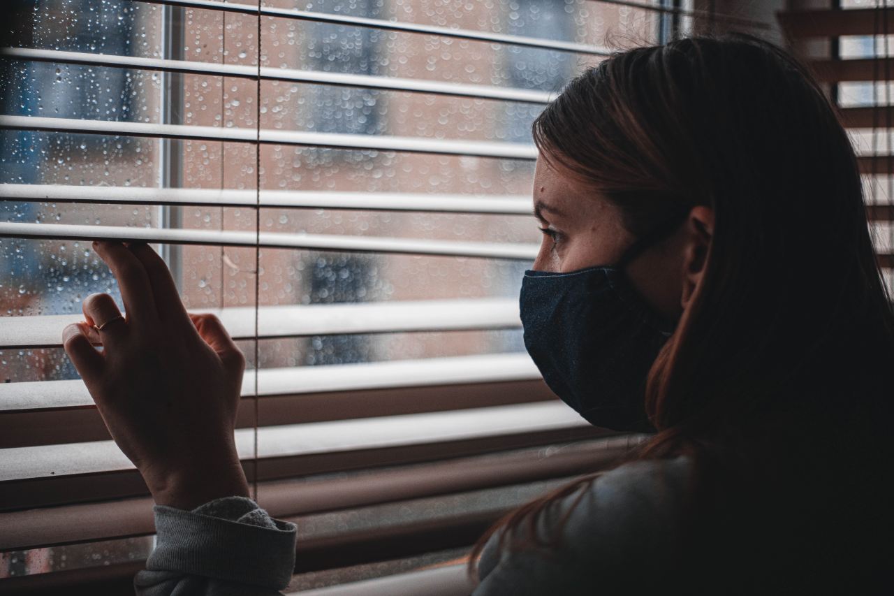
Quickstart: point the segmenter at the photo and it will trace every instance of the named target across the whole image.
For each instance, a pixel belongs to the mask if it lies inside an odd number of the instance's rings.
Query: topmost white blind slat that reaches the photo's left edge
[[[64,52],[61,50],[24,47],[0,48],[0,55],[19,60],[32,60],[58,64],[87,64],[103,67],[114,66],[119,68],[135,68],[163,72],[183,72],[208,76],[240,77],[245,79],[257,78],[256,66],[246,66],[241,64],[215,64],[137,56]],[[538,91],[536,89],[511,89],[493,85],[448,83],[425,81],[422,79],[402,79],[397,77],[381,77],[341,72],[306,71],[300,69],[272,68],[269,66],[261,67],[261,79],[265,81],[291,81],[319,85],[338,85],[342,87],[361,87],[365,89],[432,93],[434,95],[464,98],[498,99],[534,104],[548,103],[550,99],[554,97],[554,94],[552,93]]]

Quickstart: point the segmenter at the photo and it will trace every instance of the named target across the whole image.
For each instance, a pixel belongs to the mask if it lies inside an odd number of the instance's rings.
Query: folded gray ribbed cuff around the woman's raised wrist
[[[250,498],[215,499],[192,511],[156,505],[150,571],[203,575],[283,589],[295,568],[295,524],[274,520]]]

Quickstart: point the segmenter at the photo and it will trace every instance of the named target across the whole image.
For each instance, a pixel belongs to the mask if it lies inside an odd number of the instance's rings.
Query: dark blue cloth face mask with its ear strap
[[[569,273],[525,272],[525,347],[552,392],[595,426],[654,430],[645,414],[645,379],[675,324],[637,294],[623,268],[679,219],[634,243],[612,266]]]

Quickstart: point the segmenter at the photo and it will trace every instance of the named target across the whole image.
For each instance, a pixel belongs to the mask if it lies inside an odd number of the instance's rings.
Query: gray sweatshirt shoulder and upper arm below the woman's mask
[[[684,457],[636,462],[562,498],[536,526],[547,538],[570,512],[557,548],[511,548],[510,539],[530,538],[525,524],[510,532],[504,549],[497,543],[501,532],[495,533],[479,559],[473,596],[645,593],[666,586],[676,570],[688,473]]]

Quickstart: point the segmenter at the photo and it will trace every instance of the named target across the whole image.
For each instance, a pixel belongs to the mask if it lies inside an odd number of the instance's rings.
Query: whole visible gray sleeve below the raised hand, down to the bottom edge
[[[291,580],[295,524],[273,519],[250,498],[153,511],[156,549],[134,578],[138,596],[271,596]]]

